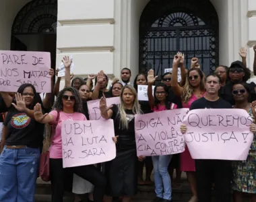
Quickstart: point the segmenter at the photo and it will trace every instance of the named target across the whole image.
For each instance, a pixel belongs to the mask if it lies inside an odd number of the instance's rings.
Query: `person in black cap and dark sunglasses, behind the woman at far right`
[[[240,83],[242,81],[247,82],[251,77],[251,71],[245,67],[241,61],[234,61],[228,71],[227,71],[229,81],[226,85],[220,90],[220,97],[224,100],[230,102],[234,105],[234,97],[232,96],[232,86],[234,83]],[[249,97],[249,102],[256,100],[255,88],[256,84],[254,82],[248,83],[250,88],[251,96]]]

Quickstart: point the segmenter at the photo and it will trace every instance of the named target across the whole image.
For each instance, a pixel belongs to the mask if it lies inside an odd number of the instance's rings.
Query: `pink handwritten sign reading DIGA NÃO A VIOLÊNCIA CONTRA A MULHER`
[[[178,154],[185,150],[180,126],[189,109],[164,110],[135,116],[137,156]]]

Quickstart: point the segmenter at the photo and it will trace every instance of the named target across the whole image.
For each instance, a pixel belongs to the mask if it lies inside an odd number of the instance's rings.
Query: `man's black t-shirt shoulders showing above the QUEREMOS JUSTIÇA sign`
[[[232,105],[222,98],[219,98],[216,101],[209,101],[205,98],[199,98],[191,104],[190,110],[198,108],[232,108]]]

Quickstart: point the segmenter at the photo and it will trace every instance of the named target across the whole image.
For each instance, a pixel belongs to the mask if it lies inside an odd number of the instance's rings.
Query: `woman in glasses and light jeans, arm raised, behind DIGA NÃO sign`
[[[150,69],[148,72],[148,101],[152,111],[159,112],[177,108],[177,104],[168,101],[168,87],[164,83],[156,84],[154,96],[152,96],[152,86],[155,81],[154,70]],[[172,155],[152,156],[156,192],[156,199],[154,201],[172,201],[172,188],[170,174],[168,172],[168,165],[171,159]]]

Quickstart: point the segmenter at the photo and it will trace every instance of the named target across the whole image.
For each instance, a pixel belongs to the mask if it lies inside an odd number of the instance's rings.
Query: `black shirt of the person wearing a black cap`
[[[248,102],[253,102],[256,100],[256,92],[255,92],[256,84],[254,82],[247,83],[247,84],[251,90],[251,96],[249,96]],[[232,81],[228,81],[226,85],[220,88],[219,90],[219,96],[232,105],[234,105],[234,98],[232,96],[233,85],[234,83]]]

